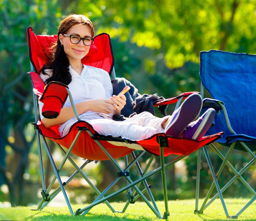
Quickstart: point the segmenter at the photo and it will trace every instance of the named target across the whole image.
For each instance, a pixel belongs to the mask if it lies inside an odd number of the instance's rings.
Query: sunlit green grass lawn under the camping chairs
[[[248,201],[248,200],[247,200]],[[246,199],[228,199],[226,200],[229,215],[235,213],[247,202]],[[124,202],[111,203],[116,210],[122,209]],[[164,203],[157,202],[159,210],[164,213]],[[74,210],[83,208],[84,205],[74,206]],[[90,210],[85,216],[71,216],[67,207],[45,207],[42,211],[34,211],[35,207],[12,207],[0,208],[0,220],[38,220],[38,221],[57,221],[57,220],[161,220],[147,207],[144,202],[135,202],[130,205],[124,214],[112,213],[109,208],[101,203]],[[170,216],[168,220],[175,221],[199,221],[199,220],[229,220],[226,218],[222,209],[220,200],[215,202],[209,208],[206,208],[204,214],[194,214],[195,200],[174,200],[169,201]],[[238,220],[256,220],[255,203],[242,213]]]

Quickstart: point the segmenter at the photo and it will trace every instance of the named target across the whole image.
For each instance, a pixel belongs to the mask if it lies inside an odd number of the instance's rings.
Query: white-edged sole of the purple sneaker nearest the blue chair
[[[196,132],[194,133],[192,139],[194,140],[201,140],[204,134],[209,130],[210,126],[215,117],[215,110],[213,108],[208,109],[206,115],[203,118],[202,123],[197,128]]]

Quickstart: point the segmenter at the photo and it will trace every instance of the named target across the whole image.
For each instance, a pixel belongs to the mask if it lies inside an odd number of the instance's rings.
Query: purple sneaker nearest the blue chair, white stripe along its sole
[[[214,117],[215,110],[213,108],[207,109],[207,111],[199,117],[197,121],[191,122],[183,131],[183,138],[201,140],[212,125]]]

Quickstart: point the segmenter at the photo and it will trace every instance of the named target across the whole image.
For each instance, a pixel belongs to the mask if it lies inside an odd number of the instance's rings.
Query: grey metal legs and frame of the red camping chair
[[[31,71],[34,70],[33,65],[31,65]],[[114,69],[113,69],[114,70]],[[115,76],[115,72],[114,72],[114,76]],[[67,89],[70,101],[71,101],[71,105],[73,107],[73,111],[75,113],[75,116],[77,118],[78,121],[81,121],[81,119],[79,118],[77,112],[76,112],[76,108],[74,105],[74,101],[73,98],[70,94],[70,91]],[[37,121],[38,119],[38,107],[36,105],[37,103],[37,98],[35,96],[35,94],[33,94],[33,99],[34,99],[34,109],[35,109],[35,120]],[[182,97],[180,97],[177,101],[177,104],[175,106],[175,108],[178,108],[178,106],[180,105],[182,100]],[[161,156],[160,160],[161,160],[161,166],[154,169],[154,171],[148,172],[148,169],[151,165],[151,163],[153,162],[153,159],[155,158],[154,155],[151,156],[146,168],[144,171],[142,171],[142,169],[140,168],[139,162],[138,160],[140,159],[140,157],[145,154],[146,151],[140,151],[140,154],[138,154],[137,156],[135,156],[134,152],[131,153],[133,161],[130,162],[130,164],[128,163],[128,158],[127,156],[125,156],[125,163],[126,163],[126,168],[121,168],[118,163],[116,162],[116,160],[111,157],[111,155],[108,153],[108,151],[101,145],[101,143],[99,142],[100,139],[98,137],[94,137],[94,141],[97,142],[97,144],[99,145],[99,147],[101,148],[101,150],[103,152],[105,152],[105,154],[109,157],[109,159],[111,160],[111,162],[116,166],[116,168],[118,169],[118,171],[123,174],[121,176],[118,176],[103,192],[100,192],[95,186],[94,184],[90,181],[89,177],[87,177],[84,172],[82,171],[82,169],[91,162],[91,160],[85,160],[85,162],[82,164],[82,166],[78,167],[74,160],[70,157],[70,153],[75,145],[75,142],[77,141],[79,135],[82,133],[83,130],[86,130],[87,133],[89,133],[91,135],[91,137],[93,138],[94,135],[90,132],[90,130],[87,130],[86,128],[81,128],[81,130],[79,130],[77,132],[76,138],[74,139],[73,143],[71,144],[71,146],[69,147],[69,149],[66,151],[63,147],[61,147],[61,145],[57,145],[59,147],[59,149],[63,152],[64,157],[62,159],[61,164],[59,165],[59,167],[57,167],[54,163],[54,159],[52,157],[51,154],[51,150],[49,148],[49,146],[47,145],[47,141],[45,139],[45,137],[42,134],[39,134],[39,131],[36,130],[36,134],[37,134],[37,144],[38,144],[38,155],[39,155],[39,165],[40,165],[40,171],[41,171],[41,177],[42,177],[42,200],[39,203],[37,210],[42,210],[45,206],[48,205],[48,203],[50,201],[52,201],[54,199],[55,196],[57,196],[57,194],[59,192],[63,193],[63,196],[66,200],[67,206],[69,208],[70,214],[71,215],[85,215],[86,213],[88,213],[88,211],[95,205],[98,205],[101,202],[105,202],[106,205],[110,208],[111,211],[113,211],[113,213],[117,212],[111,205],[110,203],[107,201],[109,198],[116,196],[116,194],[121,193],[125,190],[129,190],[129,192],[127,193],[128,196],[130,196],[122,210],[122,213],[125,212],[125,210],[127,209],[127,207],[129,206],[130,203],[134,203],[135,200],[137,200],[139,197],[141,197],[143,199],[143,201],[146,202],[146,204],[148,205],[148,207],[153,211],[153,213],[158,217],[158,218],[164,218],[167,219],[167,217],[170,215],[169,213],[169,207],[168,207],[168,199],[167,199],[167,185],[166,185],[166,175],[165,175],[165,168],[173,165],[174,163],[178,162],[179,160],[181,160],[182,158],[186,157],[186,156],[179,156],[173,160],[171,160],[169,163],[165,164],[165,159],[164,159],[164,153],[163,153],[163,147],[161,146],[161,139],[159,139],[159,148],[160,148],[160,152],[161,152]],[[42,156],[42,147],[41,147],[41,139],[44,143],[45,146],[45,150],[47,152],[47,155],[50,159],[50,162],[52,164],[53,170],[54,170],[54,177],[51,181],[51,183],[49,184],[49,186],[46,188],[45,185],[45,176],[44,176],[44,167],[43,167],[43,156]],[[119,140],[120,142],[124,142],[123,139],[119,139],[116,138],[116,140]],[[63,165],[65,165],[66,161],[69,160],[69,162],[75,167],[76,171],[69,177],[69,179],[65,182],[62,182],[61,177],[60,177],[60,172],[61,169],[63,167]],[[140,179],[136,180],[136,181],[132,181],[129,175],[129,169],[133,166],[136,165],[138,172],[141,176]],[[150,185],[147,184],[146,179],[150,176],[153,176],[154,174],[161,172],[162,173],[162,182],[163,182],[163,195],[164,195],[164,205],[165,205],[165,212],[163,214],[163,216],[160,214],[158,207],[156,205],[155,199],[153,197],[153,194],[150,191]],[[89,183],[89,185],[91,186],[91,188],[94,190],[95,193],[98,194],[97,199],[95,199],[89,206],[83,208],[83,209],[78,209],[76,212],[73,211],[73,208],[71,207],[71,203],[68,199],[67,196],[67,192],[65,190],[65,186],[77,175],[77,174],[81,174],[82,177],[86,180],[87,183]],[[105,196],[106,193],[121,179],[121,177],[125,177],[125,179],[127,180],[128,184],[127,186],[125,186],[124,188],[116,191],[115,193],[111,193],[108,196]],[[59,188],[55,189],[54,191],[52,191],[52,193],[50,193],[50,191],[52,190],[52,186],[54,184],[54,182],[58,180],[59,183]],[[139,188],[136,186],[139,183],[143,182],[145,189],[143,189],[142,191],[139,190]],[[134,188],[134,190],[131,192],[131,188]],[[137,192],[137,196],[134,196],[134,194]],[[151,200],[151,204],[149,202],[149,200],[144,196],[144,193],[147,192],[149,195],[149,198]]]

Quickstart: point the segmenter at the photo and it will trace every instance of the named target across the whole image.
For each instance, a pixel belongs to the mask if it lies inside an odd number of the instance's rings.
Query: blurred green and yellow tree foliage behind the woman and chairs
[[[89,16],[112,39],[117,76],[167,98],[200,90],[201,50],[254,54],[255,11],[255,0],[0,0],[0,168],[11,201],[22,205],[23,174],[35,171],[27,27],[53,35],[63,15]]]

